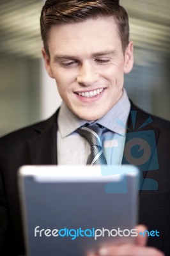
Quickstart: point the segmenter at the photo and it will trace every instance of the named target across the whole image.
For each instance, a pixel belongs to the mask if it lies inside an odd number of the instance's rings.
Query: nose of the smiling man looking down
[[[77,83],[83,84],[84,86],[91,86],[97,82],[97,79],[98,74],[95,67],[91,63],[83,63],[77,75]]]

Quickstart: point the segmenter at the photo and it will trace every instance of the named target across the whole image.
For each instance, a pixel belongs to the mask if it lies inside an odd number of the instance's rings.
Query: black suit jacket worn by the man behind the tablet
[[[160,237],[149,237],[148,244],[170,255],[170,122],[151,116],[134,104],[131,111],[137,111],[136,128],[133,127],[134,123],[129,116],[127,132],[154,131],[159,165],[158,170],[150,170],[148,164],[148,170],[141,171],[139,223],[143,223],[150,230],[160,232]],[[141,127],[150,116],[153,122]],[[48,120],[12,132],[0,139],[0,252],[3,252],[1,255],[24,253],[17,170],[25,164],[58,164],[57,120],[58,111]],[[141,129],[137,130],[139,127]],[[152,160],[154,159],[151,156],[150,163]],[[145,188],[148,179],[157,182],[157,190]]]

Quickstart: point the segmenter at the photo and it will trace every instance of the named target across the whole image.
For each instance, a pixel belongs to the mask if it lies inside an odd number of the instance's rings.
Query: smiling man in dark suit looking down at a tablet
[[[108,136],[111,141],[115,138],[120,141],[118,149],[111,147],[109,153],[103,147],[107,164],[125,163],[125,145],[129,134],[125,132],[134,127],[133,118],[131,122],[134,113],[136,129],[154,131],[153,142],[157,144],[159,166],[155,167],[157,171],[154,168],[150,171],[150,165],[154,166],[156,161],[153,162],[156,150],[153,147],[150,163],[144,172],[141,171],[139,223],[150,230],[159,230],[161,237],[150,237],[146,247],[146,237],[141,236],[136,244],[100,248],[91,256],[162,256],[162,252],[168,255],[170,172],[167,145],[170,125],[151,116],[153,122],[148,122],[145,128],[143,123],[151,120],[150,115],[135,107],[123,90],[124,74],[130,72],[133,66],[133,44],[128,41],[127,13],[119,1],[114,0],[47,0],[40,22],[45,67],[49,76],[56,80],[63,104],[49,120],[13,132],[0,140],[1,245],[4,255],[24,253],[17,191],[19,166],[86,164],[90,146],[77,129],[92,124],[107,128],[102,135],[104,146]],[[118,125],[118,120],[128,124],[128,129]],[[150,180],[153,187],[147,186]],[[158,184],[157,189],[155,184]],[[138,229],[143,231],[144,227],[139,226]]]

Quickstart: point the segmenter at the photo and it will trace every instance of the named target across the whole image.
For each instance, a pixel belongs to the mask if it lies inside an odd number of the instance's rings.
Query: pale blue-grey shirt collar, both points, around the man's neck
[[[126,125],[129,112],[130,101],[128,99],[126,90],[123,89],[123,94],[120,100],[114,104],[106,115],[102,116],[102,118],[98,119],[95,123],[106,127],[112,132],[116,132],[124,136],[127,131]],[[82,120],[76,116],[66,106],[65,102],[62,102],[58,116],[58,127],[62,138],[65,138],[86,123],[90,124],[91,122],[87,122],[86,120]]]

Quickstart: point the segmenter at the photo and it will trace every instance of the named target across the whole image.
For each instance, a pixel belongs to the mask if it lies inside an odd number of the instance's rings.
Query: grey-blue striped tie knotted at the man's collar
[[[107,164],[104,153],[102,151],[102,133],[107,129],[99,127],[97,124],[82,126],[76,131],[88,141],[91,147],[91,153],[88,156],[87,164]]]

